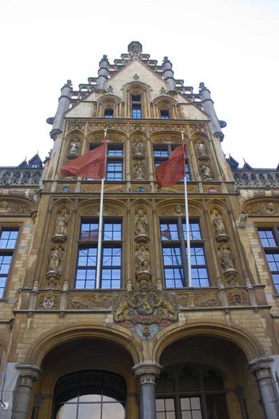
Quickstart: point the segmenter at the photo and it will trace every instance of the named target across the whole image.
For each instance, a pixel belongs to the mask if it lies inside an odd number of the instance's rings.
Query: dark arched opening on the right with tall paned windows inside
[[[156,419],[262,419],[248,360],[232,341],[185,337],[165,347],[160,365]]]

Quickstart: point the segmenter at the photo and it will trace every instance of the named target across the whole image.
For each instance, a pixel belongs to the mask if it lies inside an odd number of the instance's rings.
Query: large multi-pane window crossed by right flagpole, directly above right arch
[[[204,256],[204,240],[198,221],[190,221],[192,286],[209,286]],[[186,222],[183,219],[160,221],[165,286],[184,287],[188,283]]]

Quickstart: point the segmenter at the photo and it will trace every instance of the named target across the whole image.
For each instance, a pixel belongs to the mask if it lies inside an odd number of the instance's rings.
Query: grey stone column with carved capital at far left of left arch
[[[15,369],[20,370],[20,376],[13,418],[26,419],[33,382],[38,381],[42,372],[36,365],[24,363],[15,365]]]

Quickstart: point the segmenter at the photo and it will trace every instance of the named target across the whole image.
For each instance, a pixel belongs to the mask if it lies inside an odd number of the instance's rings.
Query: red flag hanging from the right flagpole
[[[169,159],[155,168],[158,189],[172,186],[186,177],[184,142],[176,147]]]

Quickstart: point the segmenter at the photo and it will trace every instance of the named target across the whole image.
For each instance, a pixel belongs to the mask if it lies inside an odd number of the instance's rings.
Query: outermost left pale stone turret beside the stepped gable
[[[70,108],[70,98],[72,97],[73,89],[71,87],[71,80],[63,85],[61,89],[61,96],[59,98],[56,115],[53,118],[47,118],[47,124],[52,124],[52,131],[50,131],[50,138],[56,139],[57,135],[63,131],[64,114]]]

